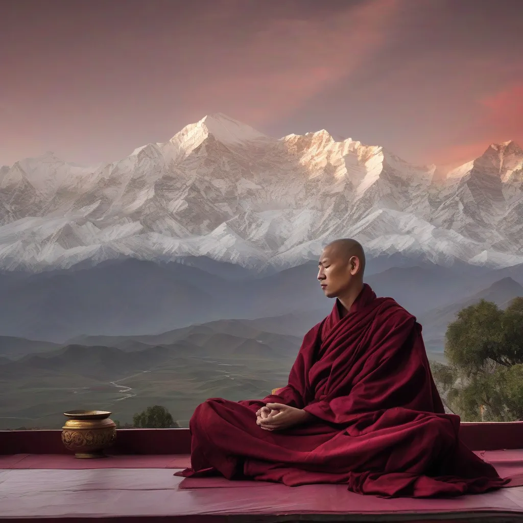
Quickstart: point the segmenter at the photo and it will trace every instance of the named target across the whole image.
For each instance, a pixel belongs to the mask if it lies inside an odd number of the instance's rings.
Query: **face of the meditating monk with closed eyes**
[[[357,256],[347,256],[333,246],[323,249],[318,264],[318,280],[327,298],[338,298],[348,292],[360,269]]]

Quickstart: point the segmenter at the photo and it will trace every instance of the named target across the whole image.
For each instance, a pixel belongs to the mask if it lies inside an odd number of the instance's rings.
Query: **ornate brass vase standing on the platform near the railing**
[[[106,458],[104,450],[116,439],[116,423],[110,415],[105,411],[64,412],[69,418],[62,427],[65,448],[76,458]]]

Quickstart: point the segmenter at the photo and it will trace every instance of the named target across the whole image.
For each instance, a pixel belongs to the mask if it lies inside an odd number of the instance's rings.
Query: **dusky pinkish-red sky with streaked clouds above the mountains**
[[[212,112],[423,163],[523,146],[521,0],[16,0],[0,19],[0,165],[119,160]]]

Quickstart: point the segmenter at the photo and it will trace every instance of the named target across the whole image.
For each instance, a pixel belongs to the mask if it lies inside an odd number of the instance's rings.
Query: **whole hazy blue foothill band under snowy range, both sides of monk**
[[[316,261],[264,277],[204,257],[179,262],[129,258],[70,271],[4,272],[0,292],[9,299],[0,300],[0,334],[64,344],[82,335],[128,338],[219,320],[286,316],[289,322],[304,317],[304,325],[281,330],[278,320],[277,332],[302,335],[334,303],[316,280]],[[420,317],[507,275],[523,282],[523,266],[493,271],[425,262],[369,274],[366,281]],[[263,324],[255,328],[266,330]]]

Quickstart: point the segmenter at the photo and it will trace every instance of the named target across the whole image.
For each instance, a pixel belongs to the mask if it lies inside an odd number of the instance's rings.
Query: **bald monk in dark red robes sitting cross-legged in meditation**
[[[364,270],[355,240],[325,247],[317,279],[336,303],[305,335],[287,386],[260,401],[199,405],[191,468],[177,475],[344,483],[384,497],[481,493],[509,481],[462,444],[421,326],[393,299],[377,298]]]

